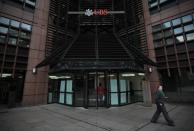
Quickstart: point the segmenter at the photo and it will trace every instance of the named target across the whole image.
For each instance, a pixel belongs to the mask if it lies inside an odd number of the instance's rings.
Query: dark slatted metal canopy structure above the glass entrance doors
[[[51,71],[142,71],[144,65],[155,66],[156,64],[142,53],[141,47],[136,46],[134,42],[130,43],[132,32],[127,21],[131,16],[127,6],[129,3],[127,0],[52,0],[47,35],[47,49],[50,50],[47,50],[47,57],[36,67],[50,65]],[[90,9],[98,12],[92,16],[85,15],[84,11]],[[104,10],[109,13],[100,12]],[[135,17],[134,15],[134,19]],[[141,25],[141,22],[138,23]],[[137,27],[137,24],[133,27],[135,26]],[[134,31],[137,32],[137,29]],[[127,37],[127,40],[123,41],[123,36]],[[140,39],[138,42],[141,45]]]

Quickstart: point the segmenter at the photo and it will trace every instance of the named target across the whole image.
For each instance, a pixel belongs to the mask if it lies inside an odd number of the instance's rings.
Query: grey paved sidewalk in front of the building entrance
[[[0,112],[0,131],[193,131],[194,106],[166,104],[176,126],[163,116],[150,123],[153,107],[141,103],[122,107],[89,108],[49,104]]]

